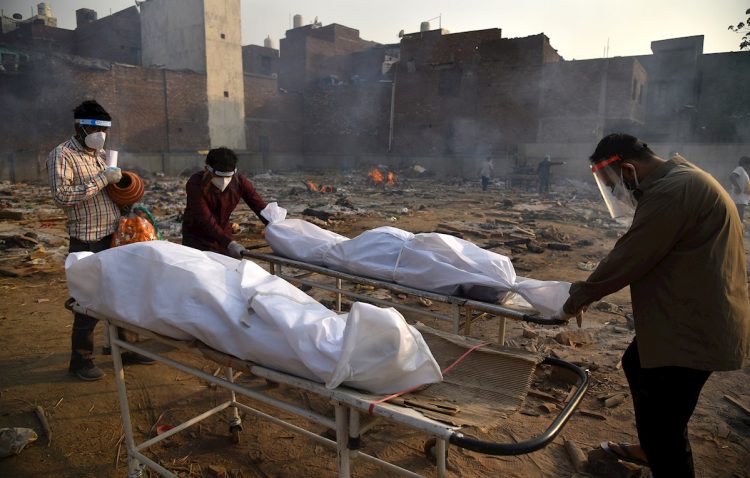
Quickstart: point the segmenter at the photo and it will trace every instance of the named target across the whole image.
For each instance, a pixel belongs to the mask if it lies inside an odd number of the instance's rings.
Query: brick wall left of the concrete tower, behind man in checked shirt
[[[0,122],[0,151],[51,150],[73,134],[72,110],[86,99],[96,99],[113,117],[109,147],[205,148],[205,81],[194,73],[36,55],[18,74],[0,75],[0,88],[9,93],[0,95],[0,108],[10,119]]]

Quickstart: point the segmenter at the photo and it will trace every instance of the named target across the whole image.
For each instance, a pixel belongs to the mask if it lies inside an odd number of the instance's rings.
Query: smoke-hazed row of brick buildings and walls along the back
[[[429,156],[462,172],[520,145],[592,144],[613,130],[678,149],[750,142],[750,90],[740,86],[750,52],[706,55],[701,36],[655,41],[651,55],[565,61],[544,34],[431,30],[380,45],[316,22],[288,30],[276,50],[240,47],[231,8],[226,21],[214,16],[193,28],[207,5],[224,2],[149,0],[102,19],[79,9],[75,30],[9,20],[0,52],[12,68],[0,71],[0,108],[17,121],[3,122],[0,151],[54,146],[69,134],[70,110],[89,97],[117,115],[112,145],[134,152],[205,149],[211,108],[215,131],[227,131],[218,120],[230,111],[233,134],[244,136],[235,147],[261,155],[264,166],[274,155],[298,155],[297,164],[308,156]],[[156,19],[166,16],[144,17],[157,5],[174,7],[193,28],[188,36],[207,43],[197,48],[178,35],[169,42],[190,55],[162,50]],[[221,78],[209,68],[216,61],[231,63]]]

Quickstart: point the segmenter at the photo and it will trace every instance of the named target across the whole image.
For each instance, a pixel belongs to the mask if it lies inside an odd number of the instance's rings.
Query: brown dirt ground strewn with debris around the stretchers
[[[309,193],[302,182],[307,178],[333,183],[337,192]],[[540,198],[533,192],[506,188],[501,182],[483,193],[478,181],[438,181],[404,174],[395,186],[383,189],[365,178],[364,172],[351,172],[327,176],[263,174],[251,179],[264,197],[278,200],[291,216],[304,217],[338,233],[354,237],[373,227],[392,225],[415,233],[437,230],[462,234],[482,247],[509,255],[519,275],[543,280],[585,278],[625,230],[606,218],[591,189],[571,182],[557,184],[550,196]],[[168,239],[179,242],[184,178],[147,179],[145,202]],[[308,208],[319,217],[303,216]],[[126,476],[126,450],[110,357],[97,356],[97,364],[107,374],[99,382],[81,382],[66,373],[72,316],[63,307],[68,297],[62,265],[67,242],[61,211],[49,200],[42,184],[3,184],[0,209],[22,210],[17,218],[0,223],[0,238],[5,244],[0,260],[4,275],[0,277],[0,427],[29,427],[39,434],[39,440],[19,455],[0,459],[0,476]],[[326,215],[327,220],[320,219]],[[244,206],[233,220],[240,227],[243,243],[262,242],[260,222]],[[24,241],[24,237],[33,241]],[[570,250],[558,250],[550,244],[567,244]],[[310,294],[330,300],[322,292]],[[577,443],[584,453],[603,440],[637,441],[630,397],[610,408],[600,399],[627,393],[619,359],[633,338],[628,292],[604,300],[591,307],[583,331],[577,331],[574,324],[544,327],[512,321],[507,329],[510,346],[552,354],[588,368],[591,388],[581,408],[591,413],[576,413],[554,442],[528,455],[492,457],[450,447],[451,476],[569,477],[575,470],[563,438]],[[407,318],[419,317],[412,314]],[[478,322],[472,336],[495,340],[497,320]],[[429,325],[449,329],[448,324]],[[571,337],[555,340],[562,331],[571,331]],[[97,354],[101,352],[101,335],[100,326],[96,332]],[[183,357],[208,373],[216,368],[179,351],[166,354]],[[750,404],[749,375],[750,369],[715,373],[704,388],[690,423],[697,476],[750,476],[750,415],[727,399]],[[228,395],[161,364],[129,366],[126,376],[136,440],[141,441],[154,434],[157,424],[178,424]],[[239,380],[250,385],[257,381],[244,375]],[[539,391],[554,395],[558,401],[565,398],[564,389],[540,387]],[[306,402],[313,409],[328,408],[326,403],[283,386],[271,393]],[[507,443],[541,432],[554,416],[544,409],[549,401],[530,396],[517,413],[490,431],[490,436]],[[42,430],[34,413],[36,406],[47,413],[51,437]],[[267,406],[258,408],[271,412]],[[325,432],[323,427],[310,428]],[[422,451],[426,438],[399,426],[382,425],[365,435],[364,449],[430,475],[435,469]],[[220,415],[154,447],[150,456],[186,477],[336,476],[334,450],[252,416],[244,416],[239,444],[231,442],[228,421]],[[648,476],[638,468],[628,470],[616,464],[608,473]],[[353,475],[391,476],[361,461],[355,462]]]

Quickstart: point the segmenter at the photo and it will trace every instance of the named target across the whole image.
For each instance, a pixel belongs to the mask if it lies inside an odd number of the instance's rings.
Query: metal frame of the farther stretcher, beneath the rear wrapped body
[[[258,249],[270,247],[268,244],[257,244],[250,246],[248,250],[243,253],[244,257],[262,261],[268,263],[269,272],[277,275],[282,279],[291,282],[293,284],[303,284],[309,287],[315,287],[318,289],[326,290],[336,294],[336,312],[341,313],[342,309],[342,297],[346,296],[352,299],[356,299],[362,302],[369,302],[380,306],[393,307],[399,312],[414,312],[420,315],[433,317],[438,320],[448,321],[452,324],[452,332],[454,334],[461,334],[467,337],[471,336],[471,326],[477,320],[485,319],[488,317],[497,317],[499,319],[498,332],[497,332],[497,343],[499,345],[505,345],[506,335],[506,319],[520,320],[523,322],[529,322],[541,325],[564,325],[567,324],[566,320],[562,319],[546,319],[539,315],[530,314],[521,310],[511,309],[495,303],[482,302],[478,300],[471,300],[464,297],[438,294],[422,289],[416,289],[414,287],[408,287],[395,282],[388,282],[379,279],[372,279],[369,277],[358,276],[349,274],[346,272],[340,272],[327,267],[317,266],[308,264],[306,262],[297,261],[294,259],[287,259],[286,257],[277,256],[275,254],[268,254],[264,252],[258,252]],[[291,267],[294,269],[305,270],[308,273],[302,275],[291,275],[286,274],[283,271],[283,267]],[[311,274],[320,274],[326,277],[331,277],[336,280],[335,286],[327,284],[321,284],[306,277]],[[406,294],[407,296],[418,297],[422,299],[429,299],[435,302],[442,302],[451,306],[451,313],[444,314],[441,312],[429,310],[427,307],[413,307],[408,304],[402,304],[394,301],[385,299],[379,299],[364,294],[345,289],[343,287],[344,282],[351,284],[359,284],[364,286],[371,286],[378,289],[386,289],[396,294]],[[463,322],[463,331],[461,325]]]

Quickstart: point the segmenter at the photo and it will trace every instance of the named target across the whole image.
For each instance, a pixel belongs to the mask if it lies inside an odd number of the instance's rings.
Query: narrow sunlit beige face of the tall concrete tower
[[[240,0],[203,0],[211,147],[245,149]]]

